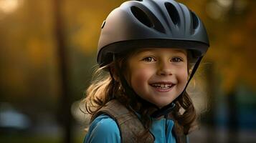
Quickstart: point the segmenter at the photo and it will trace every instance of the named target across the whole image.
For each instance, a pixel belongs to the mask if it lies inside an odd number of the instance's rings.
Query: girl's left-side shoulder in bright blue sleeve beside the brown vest
[[[118,124],[107,114],[101,114],[90,125],[85,142],[120,142]]]

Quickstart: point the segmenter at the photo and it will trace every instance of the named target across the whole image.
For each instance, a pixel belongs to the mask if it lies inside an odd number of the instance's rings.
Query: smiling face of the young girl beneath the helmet
[[[181,94],[188,79],[182,49],[142,49],[128,58],[127,80],[141,98],[166,106]]]

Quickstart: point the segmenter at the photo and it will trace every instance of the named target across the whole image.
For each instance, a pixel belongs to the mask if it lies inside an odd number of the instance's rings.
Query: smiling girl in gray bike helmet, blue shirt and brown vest
[[[187,142],[196,112],[186,87],[209,47],[204,24],[174,0],[127,1],[103,22],[85,107],[85,142]]]

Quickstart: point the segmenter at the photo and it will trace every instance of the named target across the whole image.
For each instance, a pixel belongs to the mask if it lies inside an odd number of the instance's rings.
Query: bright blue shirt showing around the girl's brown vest
[[[176,143],[174,134],[171,132],[173,127],[174,121],[170,119],[153,119],[150,132],[155,137],[155,143]],[[107,114],[101,114],[92,122],[84,141],[84,143],[120,142],[121,138],[118,124]]]

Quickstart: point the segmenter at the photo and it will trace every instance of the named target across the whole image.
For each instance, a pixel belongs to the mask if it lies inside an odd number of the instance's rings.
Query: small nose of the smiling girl
[[[159,76],[169,76],[173,74],[173,68],[171,67],[171,63],[166,61],[161,61],[158,63],[158,71],[157,74]]]

